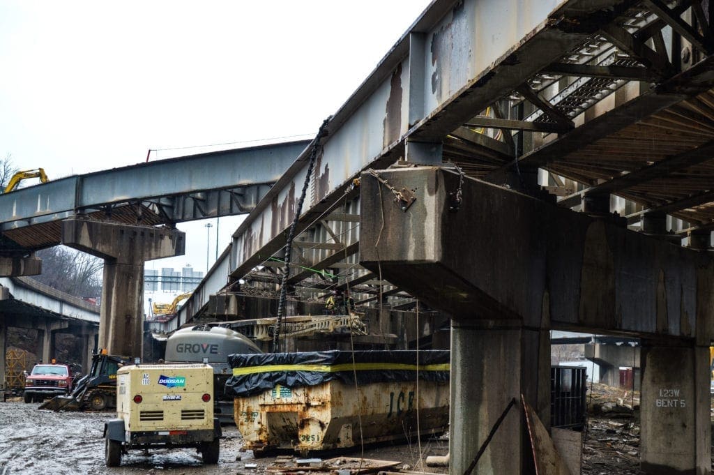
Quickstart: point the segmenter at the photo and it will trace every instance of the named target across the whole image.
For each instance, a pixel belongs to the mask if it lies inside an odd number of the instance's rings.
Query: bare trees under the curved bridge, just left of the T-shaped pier
[[[34,279],[78,297],[101,296],[101,271],[104,261],[65,246],[43,249],[42,274]]]

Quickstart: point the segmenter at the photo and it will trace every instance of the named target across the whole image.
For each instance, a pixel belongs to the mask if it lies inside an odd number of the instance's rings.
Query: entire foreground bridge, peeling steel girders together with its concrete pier
[[[211,294],[277,296],[308,181],[298,300],[343,286],[358,304],[452,316],[451,473],[501,421],[477,473],[532,473],[533,459],[566,473],[524,435],[548,425],[551,328],[640,336],[641,468],[710,473],[713,21],[699,0],[434,1],[177,323],[210,316]]]

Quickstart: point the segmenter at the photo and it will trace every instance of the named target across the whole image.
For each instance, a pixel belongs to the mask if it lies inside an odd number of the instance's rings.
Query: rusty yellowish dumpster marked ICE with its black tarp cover
[[[312,452],[441,434],[448,425],[448,351],[231,355],[244,447]],[[418,369],[418,371],[417,371]],[[417,384],[418,374],[418,384]],[[418,422],[417,424],[417,414]]]

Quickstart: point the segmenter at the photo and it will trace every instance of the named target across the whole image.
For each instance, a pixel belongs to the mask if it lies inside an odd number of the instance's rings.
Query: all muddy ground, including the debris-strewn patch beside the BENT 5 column
[[[11,474],[233,474],[262,475],[284,464],[285,459],[254,459],[241,451],[241,436],[235,426],[224,426],[218,465],[203,466],[193,449],[131,451],[122,466],[104,466],[104,421],[112,413],[53,412],[37,409],[19,399],[0,399],[0,475]],[[585,433],[583,474],[634,475],[639,471],[639,428],[631,418],[591,417]],[[443,455],[448,441],[423,440],[423,456]],[[349,456],[359,457],[359,451]],[[446,473],[446,469],[422,467],[418,445],[388,445],[367,449],[368,459],[401,462],[397,468]],[[288,462],[290,463],[290,462]],[[246,467],[246,464],[248,465]],[[257,464],[251,468],[251,464]]]

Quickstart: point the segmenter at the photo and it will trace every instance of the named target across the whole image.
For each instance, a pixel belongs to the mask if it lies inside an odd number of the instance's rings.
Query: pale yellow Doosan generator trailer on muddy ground
[[[116,379],[116,419],[104,424],[106,466],[119,466],[130,449],[178,447],[196,447],[204,464],[218,463],[211,366],[137,364]]]

